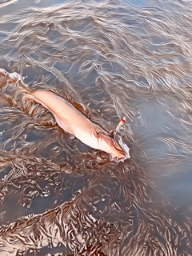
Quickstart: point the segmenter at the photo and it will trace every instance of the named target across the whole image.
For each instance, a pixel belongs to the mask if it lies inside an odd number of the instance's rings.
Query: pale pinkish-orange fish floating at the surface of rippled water
[[[94,124],[70,102],[50,90],[34,90],[24,96],[44,106],[54,115],[62,130],[74,134],[83,144],[102,150],[116,160],[129,158],[110,134],[95,130]]]

